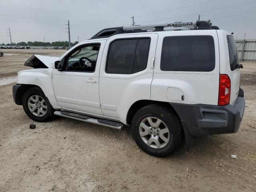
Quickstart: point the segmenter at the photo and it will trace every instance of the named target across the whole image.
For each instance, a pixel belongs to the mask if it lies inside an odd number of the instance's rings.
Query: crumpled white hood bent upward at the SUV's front
[[[59,57],[50,57],[44,55],[32,55],[26,62],[25,66],[33,68],[50,68],[52,63],[58,61]]]

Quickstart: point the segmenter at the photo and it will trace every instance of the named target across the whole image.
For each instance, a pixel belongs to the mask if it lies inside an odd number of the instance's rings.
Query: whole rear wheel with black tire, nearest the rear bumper
[[[135,142],[150,155],[168,156],[181,142],[180,120],[172,110],[160,105],[152,104],[138,110],[131,125]]]

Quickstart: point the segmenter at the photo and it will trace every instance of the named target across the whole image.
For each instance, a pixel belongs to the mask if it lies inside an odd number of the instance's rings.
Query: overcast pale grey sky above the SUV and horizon
[[[256,38],[256,0],[0,0],[0,43],[87,40],[103,28],[210,19],[237,39]]]

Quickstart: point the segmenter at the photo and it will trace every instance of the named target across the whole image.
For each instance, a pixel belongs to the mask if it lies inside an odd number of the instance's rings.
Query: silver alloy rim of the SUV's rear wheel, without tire
[[[168,127],[156,117],[144,118],[140,123],[139,132],[144,143],[152,148],[163,148],[170,140]]]

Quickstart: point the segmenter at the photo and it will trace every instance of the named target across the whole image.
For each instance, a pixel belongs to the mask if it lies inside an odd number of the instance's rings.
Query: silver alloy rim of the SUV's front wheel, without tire
[[[46,114],[48,108],[44,98],[39,95],[32,95],[28,99],[28,109],[35,116],[42,117]]]

